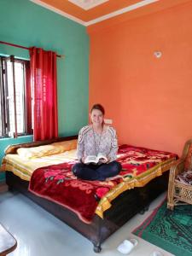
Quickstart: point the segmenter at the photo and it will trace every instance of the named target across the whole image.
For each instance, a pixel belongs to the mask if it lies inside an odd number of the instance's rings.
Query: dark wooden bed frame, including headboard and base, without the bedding
[[[62,137],[55,140],[36,142],[36,143],[22,143],[9,146],[5,154],[15,154],[16,149],[20,147],[35,147],[39,145],[49,144],[58,141],[70,140],[75,137]],[[112,207],[104,212],[104,218],[100,218],[95,214],[91,224],[85,224],[79,217],[65,207],[33,195],[28,191],[28,182],[15,176],[13,172],[6,172],[6,183],[9,189],[17,189],[20,193],[26,195],[39,206],[43,207],[48,212],[52,213],[56,218],[78,231],[81,235],[88,238],[94,245],[94,252],[99,253],[102,250],[101,244],[113,232],[125,224],[138,212],[143,212],[149,203],[153,201],[158,195],[167,189],[169,172],[164,172],[162,176],[155,177],[147,185],[142,188],[135,188],[126,190],[112,201]]]

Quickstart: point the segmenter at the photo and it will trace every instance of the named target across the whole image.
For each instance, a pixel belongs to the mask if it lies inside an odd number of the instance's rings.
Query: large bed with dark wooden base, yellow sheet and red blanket
[[[60,218],[64,223],[88,238],[93,243],[94,251],[99,253],[102,249],[102,242],[108,236],[111,236],[137,212],[143,212],[151,201],[167,189],[169,176],[167,171],[177,159],[177,155],[148,148],[121,145],[118,160],[123,168],[119,177],[113,177],[106,183],[85,182],[75,180],[76,177],[73,177],[72,172],[70,172],[71,169],[66,167],[73,166],[77,161],[75,158],[76,139],[77,136],[61,137],[44,142],[9,146],[5,150],[1,170],[6,171],[6,183],[9,189],[19,190],[32,201],[44,207],[45,210],[54,214],[55,217]],[[49,154],[47,154],[44,146],[48,146],[46,150],[48,149]],[[26,157],[27,148],[33,150],[30,155],[37,154],[37,150],[38,154],[41,153],[38,157],[37,155],[36,157],[29,157],[29,155]],[[44,154],[38,148],[42,149]],[[54,152],[54,150],[56,151]],[[20,155],[18,155],[19,152]],[[26,167],[28,163],[30,163],[30,167]],[[65,178],[57,175],[58,178],[55,180],[53,175],[44,176],[45,172],[46,174],[55,172],[55,170],[57,172],[60,166],[62,166],[62,172],[65,172]],[[89,190],[89,193],[94,195],[91,197],[94,212],[92,215],[90,214],[89,221],[78,214],[76,209],[73,210],[68,207],[66,201],[60,203],[57,199],[50,199],[49,196],[44,195],[46,189],[44,189],[43,194],[38,194],[39,191],[35,189],[39,186],[42,187],[42,184],[36,185],[35,178],[41,180],[41,177],[36,176],[36,173],[38,175],[43,173],[44,186],[49,183],[48,187],[51,187],[52,183],[57,183],[57,186],[61,188],[64,188],[64,184],[69,187],[72,183],[77,184],[79,182],[81,188],[91,185],[93,189]],[[73,195],[77,186],[71,187],[73,189],[71,188],[69,193]],[[88,201],[88,207],[89,205],[90,201]]]

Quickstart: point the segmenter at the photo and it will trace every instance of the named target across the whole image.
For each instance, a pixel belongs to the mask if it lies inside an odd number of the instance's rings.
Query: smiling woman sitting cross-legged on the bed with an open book
[[[77,156],[79,163],[75,164],[72,172],[75,176],[86,180],[104,181],[107,177],[119,174],[121,165],[116,161],[118,141],[113,127],[104,125],[105,110],[100,104],[90,110],[91,125],[84,126],[79,131]],[[92,160],[100,154],[98,163]],[[95,157],[94,157],[95,156]]]

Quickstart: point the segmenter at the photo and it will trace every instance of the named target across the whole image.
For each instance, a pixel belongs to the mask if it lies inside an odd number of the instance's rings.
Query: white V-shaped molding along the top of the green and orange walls
[[[49,5],[47,3],[44,3],[41,0],[30,0],[30,1],[33,2],[33,3],[37,3],[38,5],[41,5],[41,6],[43,6],[46,9],[52,10],[55,13],[57,13],[59,15],[62,15],[64,17],[70,19],[70,20],[78,22],[79,24],[81,24],[83,26],[90,26],[90,25],[96,24],[96,23],[98,23],[98,22],[100,22],[102,20],[108,20],[108,19],[113,18],[113,17],[115,17],[117,15],[122,15],[122,14],[125,14],[126,12],[130,12],[131,10],[141,8],[141,7],[143,7],[145,5],[148,5],[150,3],[159,2],[160,0],[143,0],[141,2],[131,4],[130,6],[125,7],[123,9],[119,9],[117,11],[114,11],[111,14],[103,15],[103,16],[101,16],[99,18],[96,18],[95,20],[90,20],[88,22],[80,20],[80,19],[74,17],[73,15],[68,15],[66,12],[63,12],[60,9],[56,9],[55,7],[52,7],[51,5]]]

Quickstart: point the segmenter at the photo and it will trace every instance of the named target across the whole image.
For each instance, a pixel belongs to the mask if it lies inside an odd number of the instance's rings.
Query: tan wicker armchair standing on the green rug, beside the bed
[[[178,174],[192,170],[192,139],[185,143],[181,159],[170,169],[167,208],[173,210],[181,204],[192,204],[192,185],[177,180]]]

